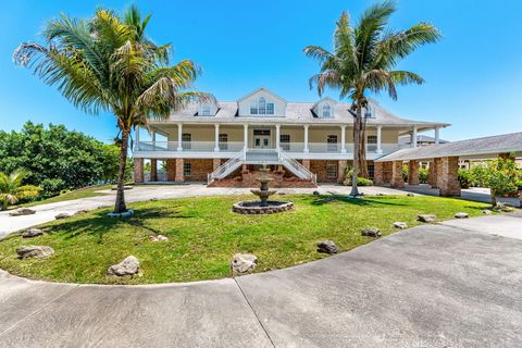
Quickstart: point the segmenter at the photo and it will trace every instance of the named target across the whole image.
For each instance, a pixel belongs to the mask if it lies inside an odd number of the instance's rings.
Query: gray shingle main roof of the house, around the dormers
[[[412,127],[417,125],[419,130],[433,128],[435,126],[449,126],[447,123],[413,121],[399,117],[382,108],[375,101],[372,101],[375,116],[368,119],[368,125],[383,125],[391,127]],[[313,102],[288,102],[286,104],[285,116],[239,116],[237,114],[238,103],[236,101],[220,101],[219,111],[214,116],[197,115],[198,105],[191,104],[183,111],[173,113],[169,121],[164,122],[189,122],[189,123],[283,123],[283,124],[347,124],[353,123],[353,117],[349,113],[350,103],[337,102],[334,108],[334,117],[320,119],[312,112]],[[163,123],[163,122],[152,122]]]

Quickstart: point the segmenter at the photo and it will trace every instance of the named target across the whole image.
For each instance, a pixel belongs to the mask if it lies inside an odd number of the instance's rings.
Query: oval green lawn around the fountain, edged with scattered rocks
[[[251,197],[245,197],[251,199]],[[107,217],[97,210],[46,225],[49,233],[33,239],[18,234],[0,241],[0,268],[11,273],[75,283],[165,283],[229,276],[235,252],[253,252],[257,272],[287,268],[327,256],[315,251],[315,243],[334,240],[346,251],[373,239],[362,237],[362,227],[378,227],[384,235],[396,232],[395,221],[418,225],[419,213],[434,213],[437,220],[457,212],[481,215],[484,203],[437,197],[383,196],[345,199],[298,195],[296,209],[274,215],[239,215],[231,211],[236,197],[187,198],[132,203],[136,215],[127,220]],[[149,236],[163,234],[169,241],[152,243]],[[47,245],[55,250],[48,259],[18,260],[22,245]],[[142,277],[115,279],[107,269],[134,254]]]

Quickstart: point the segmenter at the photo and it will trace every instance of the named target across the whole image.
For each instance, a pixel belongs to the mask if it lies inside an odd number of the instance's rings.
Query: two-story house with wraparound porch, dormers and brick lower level
[[[289,102],[265,88],[237,101],[194,103],[165,121],[150,122],[148,141],[136,133],[134,175],[144,182],[208,182],[212,186],[257,186],[256,169],[270,166],[272,186],[340,183],[353,160],[350,104],[323,98]],[[401,148],[399,137],[439,129],[446,123],[398,117],[372,101],[364,110],[366,159]],[[415,147],[413,140],[411,145]],[[403,146],[402,146],[403,147]],[[144,163],[150,172],[144,173]],[[149,167],[149,165],[147,165]]]

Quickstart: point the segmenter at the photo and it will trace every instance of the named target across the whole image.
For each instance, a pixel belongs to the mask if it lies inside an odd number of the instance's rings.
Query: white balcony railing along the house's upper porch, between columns
[[[406,146],[409,147],[409,146]],[[238,152],[245,148],[243,141],[219,142],[219,149],[222,152]],[[281,142],[281,148],[285,152],[306,152],[304,142]],[[366,144],[366,153],[390,153],[405,148],[398,144],[381,144],[381,152],[377,152],[376,144]],[[345,144],[346,153],[353,153],[353,144]],[[252,149],[254,150],[254,149]],[[275,150],[275,149],[273,149]],[[178,151],[177,141],[139,141],[135,151]],[[214,141],[182,141],[182,151],[184,152],[213,152],[215,151]],[[341,145],[327,142],[309,142],[308,152],[310,153],[341,153]]]

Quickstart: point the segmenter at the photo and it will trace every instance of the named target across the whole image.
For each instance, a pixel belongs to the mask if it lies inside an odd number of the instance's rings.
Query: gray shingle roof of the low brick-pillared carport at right
[[[425,160],[453,156],[472,157],[521,151],[522,132],[403,149],[384,156],[376,160],[376,162]]]

